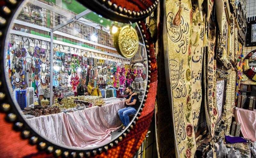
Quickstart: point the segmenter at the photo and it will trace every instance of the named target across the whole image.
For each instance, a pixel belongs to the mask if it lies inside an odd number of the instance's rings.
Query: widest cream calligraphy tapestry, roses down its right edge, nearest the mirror
[[[194,157],[196,151],[191,105],[191,24],[192,4],[190,0],[166,0],[164,30],[165,61],[169,67],[169,97],[174,115],[174,131],[177,154]],[[165,32],[166,31],[166,32]],[[168,85],[168,83],[167,83]]]

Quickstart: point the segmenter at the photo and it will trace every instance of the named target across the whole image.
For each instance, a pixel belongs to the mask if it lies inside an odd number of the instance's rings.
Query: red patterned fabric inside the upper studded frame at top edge
[[[130,11],[140,12],[148,9],[154,4],[155,0],[110,0],[112,4],[121,6]]]

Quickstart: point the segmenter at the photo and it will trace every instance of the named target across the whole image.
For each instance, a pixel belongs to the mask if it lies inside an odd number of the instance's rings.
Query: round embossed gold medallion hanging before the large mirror
[[[125,58],[132,58],[139,48],[138,34],[130,25],[118,28],[113,42],[116,50]]]

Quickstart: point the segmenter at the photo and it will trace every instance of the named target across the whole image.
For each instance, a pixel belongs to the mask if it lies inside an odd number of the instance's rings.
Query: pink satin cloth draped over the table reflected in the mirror
[[[111,140],[111,132],[120,128],[117,111],[125,101],[91,107],[71,113],[46,115],[26,120],[41,136],[62,146],[91,149]]]

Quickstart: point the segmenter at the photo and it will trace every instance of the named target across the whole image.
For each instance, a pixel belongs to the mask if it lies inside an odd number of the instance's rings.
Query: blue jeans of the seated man
[[[134,107],[125,107],[118,110],[118,115],[123,125],[126,127],[130,123],[129,115],[136,114],[137,110]]]

